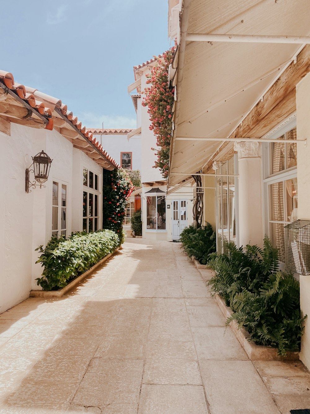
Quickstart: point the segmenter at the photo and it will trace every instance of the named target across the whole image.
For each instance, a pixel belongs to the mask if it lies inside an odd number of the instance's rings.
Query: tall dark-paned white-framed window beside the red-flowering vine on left
[[[83,169],[83,231],[96,231],[99,224],[99,176]]]

